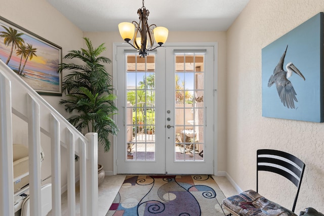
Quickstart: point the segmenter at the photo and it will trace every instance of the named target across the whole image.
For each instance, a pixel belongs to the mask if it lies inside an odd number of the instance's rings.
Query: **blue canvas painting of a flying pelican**
[[[323,122],[323,13],[262,49],[262,116]]]

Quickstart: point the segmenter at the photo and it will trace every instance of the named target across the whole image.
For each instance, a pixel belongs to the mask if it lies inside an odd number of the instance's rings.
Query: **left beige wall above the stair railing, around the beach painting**
[[[2,1],[0,16],[62,47],[63,56],[83,47],[83,32],[45,0]],[[60,97],[43,97],[60,113],[66,113],[58,104]]]

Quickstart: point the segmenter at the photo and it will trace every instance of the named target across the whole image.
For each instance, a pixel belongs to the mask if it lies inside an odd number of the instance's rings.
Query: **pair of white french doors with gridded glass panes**
[[[213,174],[214,47],[117,47],[117,174]]]

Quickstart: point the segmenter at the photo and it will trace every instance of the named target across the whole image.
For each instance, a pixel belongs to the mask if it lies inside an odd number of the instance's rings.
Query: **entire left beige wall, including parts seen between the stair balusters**
[[[83,47],[83,32],[68,21],[45,0],[11,0],[2,1],[0,15],[17,25],[53,42],[62,47],[63,56],[69,50]],[[63,74],[64,76],[64,74]],[[59,105],[61,97],[43,96],[62,115],[67,116],[64,106]],[[28,145],[27,123],[13,115],[13,142]],[[51,175],[50,139],[41,135],[41,144],[45,152],[45,161],[42,164],[42,179]],[[61,185],[67,183],[65,149],[61,148],[62,175]],[[78,168],[76,168],[78,175]],[[48,183],[45,182],[45,183]]]

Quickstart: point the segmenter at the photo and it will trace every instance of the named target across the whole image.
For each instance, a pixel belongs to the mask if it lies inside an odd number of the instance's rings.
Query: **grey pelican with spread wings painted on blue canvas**
[[[286,106],[287,108],[295,109],[294,101],[298,102],[296,98],[297,94],[294,90],[293,84],[288,80],[288,78],[292,76],[293,72],[297,73],[304,80],[305,77],[291,62],[286,65],[287,71],[284,70],[284,60],[287,48],[288,45],[286,47],[285,53],[282,54],[277,66],[274,68],[273,74],[269,78],[268,87],[271,87],[271,85],[275,83],[282,104],[284,104],[284,106]]]

